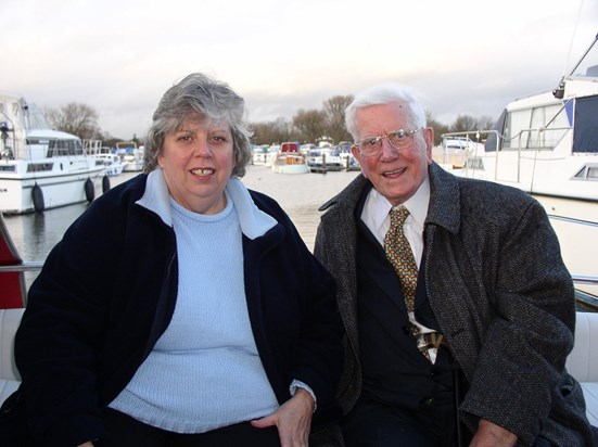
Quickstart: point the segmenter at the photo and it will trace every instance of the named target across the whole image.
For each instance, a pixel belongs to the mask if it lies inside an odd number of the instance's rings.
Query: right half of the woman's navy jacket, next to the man
[[[275,391],[279,389],[279,401],[290,397],[289,386],[298,380],[316,395],[315,420],[330,419],[335,417],[335,411],[340,412],[334,395],[343,365],[336,283],[309,252],[278,204],[262,196],[257,202],[279,222],[270,237],[280,238],[272,247],[260,245],[253,252],[259,261],[252,256],[245,259],[250,268],[259,269],[259,284],[250,286],[249,293],[260,294],[263,299],[263,306],[253,314],[254,321],[265,321],[265,335],[260,331],[256,333],[258,346],[268,346],[260,350],[263,361],[267,371],[279,371],[270,375],[270,380],[278,383]],[[246,274],[250,283],[251,277],[254,274],[250,270]],[[251,290],[259,292],[253,294]],[[251,308],[253,306],[250,311]]]

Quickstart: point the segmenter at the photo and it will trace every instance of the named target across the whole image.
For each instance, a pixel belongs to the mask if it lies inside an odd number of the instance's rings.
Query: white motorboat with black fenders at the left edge
[[[91,202],[104,166],[74,135],[48,126],[23,98],[0,94],[0,212],[23,214]]]

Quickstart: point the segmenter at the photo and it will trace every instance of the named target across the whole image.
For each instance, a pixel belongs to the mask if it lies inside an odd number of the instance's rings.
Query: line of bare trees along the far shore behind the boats
[[[335,95],[322,102],[321,108],[300,108],[291,118],[279,117],[272,122],[250,123],[253,129],[252,142],[257,145],[298,141],[317,143],[328,140],[338,144],[353,141],[345,127],[345,108],[353,101],[353,95]],[[81,103],[68,103],[59,108],[46,108],[50,125],[84,140],[102,140],[104,145],[114,146],[117,141],[135,141],[142,144],[136,135],[115,138],[98,125],[98,112]],[[440,144],[442,135],[447,132],[475,131],[492,129],[494,119],[489,116],[475,118],[470,115],[458,115],[450,125],[434,119],[431,112],[425,113],[428,126],[434,129],[434,144]]]

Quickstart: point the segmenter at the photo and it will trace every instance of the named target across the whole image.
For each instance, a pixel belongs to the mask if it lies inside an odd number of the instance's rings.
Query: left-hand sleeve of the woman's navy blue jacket
[[[16,334],[27,423],[43,445],[103,435],[94,370],[107,310],[99,297],[111,273],[101,253],[116,242],[104,217],[88,209],[51,251]]]

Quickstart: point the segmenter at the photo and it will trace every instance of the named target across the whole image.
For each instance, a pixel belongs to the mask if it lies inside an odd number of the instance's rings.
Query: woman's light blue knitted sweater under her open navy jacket
[[[241,227],[227,207],[199,215],[170,201],[179,291],[173,320],[111,407],[164,430],[203,433],[272,413],[276,396],[247,315]]]

